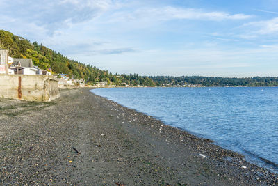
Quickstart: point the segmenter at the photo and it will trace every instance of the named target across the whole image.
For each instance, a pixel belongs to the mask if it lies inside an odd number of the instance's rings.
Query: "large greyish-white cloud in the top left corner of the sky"
[[[14,17],[17,23],[33,23],[53,35],[59,29],[87,22],[117,6],[113,0],[1,1],[2,19]],[[15,11],[10,11],[15,10]],[[6,17],[5,17],[6,16]],[[0,21],[2,20],[0,18]]]

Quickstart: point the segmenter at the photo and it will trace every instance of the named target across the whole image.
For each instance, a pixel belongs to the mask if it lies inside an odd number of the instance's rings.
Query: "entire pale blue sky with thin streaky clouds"
[[[277,0],[1,0],[0,25],[118,74],[278,76]]]

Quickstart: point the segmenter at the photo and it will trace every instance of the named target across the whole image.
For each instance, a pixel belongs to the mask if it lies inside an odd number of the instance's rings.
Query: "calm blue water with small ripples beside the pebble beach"
[[[213,139],[251,162],[278,171],[278,88],[99,88],[92,92]]]

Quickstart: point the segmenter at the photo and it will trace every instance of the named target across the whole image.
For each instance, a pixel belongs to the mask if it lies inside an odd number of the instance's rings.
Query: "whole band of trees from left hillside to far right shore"
[[[93,65],[85,65],[55,52],[38,42],[30,42],[8,31],[0,30],[0,48],[8,49],[14,58],[30,58],[34,65],[53,73],[64,73],[74,79],[84,79],[87,84],[107,82],[116,86],[278,86],[277,77],[224,78],[224,77],[163,77],[139,75],[113,75]],[[93,63],[93,62],[92,62]]]

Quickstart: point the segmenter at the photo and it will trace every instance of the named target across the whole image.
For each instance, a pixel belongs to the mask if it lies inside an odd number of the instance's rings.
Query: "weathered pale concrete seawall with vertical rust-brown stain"
[[[58,81],[48,75],[0,75],[0,96],[28,101],[50,101],[60,94]]]

